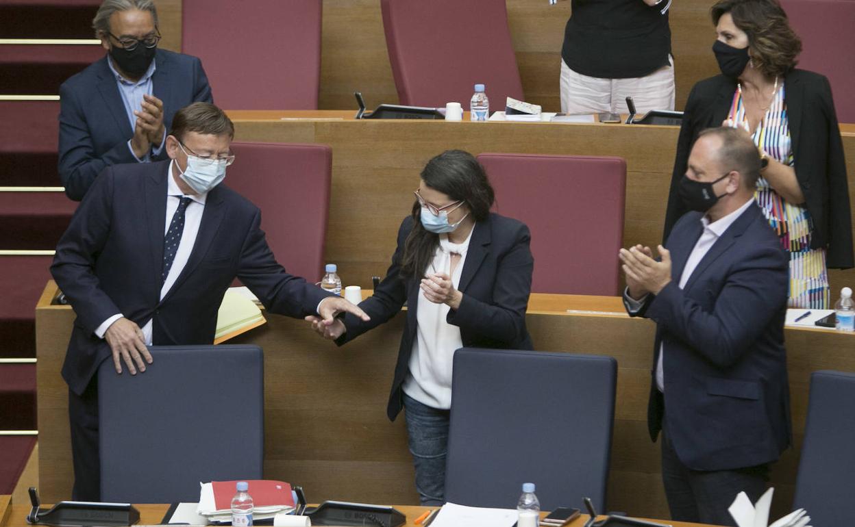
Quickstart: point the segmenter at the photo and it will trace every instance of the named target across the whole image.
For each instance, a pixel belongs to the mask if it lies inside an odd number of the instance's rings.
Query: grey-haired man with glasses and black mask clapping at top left
[[[178,108],[212,102],[198,58],[157,49],[152,0],[104,0],[92,26],[107,56],[60,86],[59,175],[75,201],[104,167],[166,159]]]

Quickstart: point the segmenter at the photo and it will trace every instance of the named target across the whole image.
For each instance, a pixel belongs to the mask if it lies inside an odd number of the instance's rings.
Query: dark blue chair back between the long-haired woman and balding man
[[[617,362],[611,357],[461,348],[454,355],[445,500],[605,508]]]

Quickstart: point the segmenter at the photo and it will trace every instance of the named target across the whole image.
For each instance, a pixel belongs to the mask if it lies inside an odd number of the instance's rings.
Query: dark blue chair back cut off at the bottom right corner
[[[855,373],[813,372],[793,509],[813,525],[851,525]]]

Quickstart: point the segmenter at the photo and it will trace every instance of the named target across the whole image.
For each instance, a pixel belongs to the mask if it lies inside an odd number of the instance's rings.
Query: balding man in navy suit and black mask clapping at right
[[[757,148],[745,132],[702,132],[680,182],[687,208],[661,261],[621,249],[628,313],[657,323],[648,411],[662,431],[671,517],[735,525],[791,442],[784,318],[787,255],[754,203]]]

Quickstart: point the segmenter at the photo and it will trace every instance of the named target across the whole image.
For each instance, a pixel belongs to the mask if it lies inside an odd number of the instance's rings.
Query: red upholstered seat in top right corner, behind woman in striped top
[[[781,0],[790,25],[802,39],[799,66],[823,73],[831,83],[841,123],[855,123],[855,2]]]

